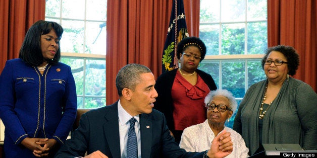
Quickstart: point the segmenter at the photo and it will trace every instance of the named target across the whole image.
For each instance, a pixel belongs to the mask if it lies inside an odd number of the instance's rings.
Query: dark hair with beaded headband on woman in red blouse
[[[180,54],[183,53],[183,51],[189,47],[189,46],[195,46],[200,50],[201,53],[201,59],[202,61],[205,58],[206,55],[206,46],[205,44],[197,37],[186,37],[183,38],[178,44],[177,44],[177,58],[179,58]],[[199,62],[200,62],[199,61]]]

